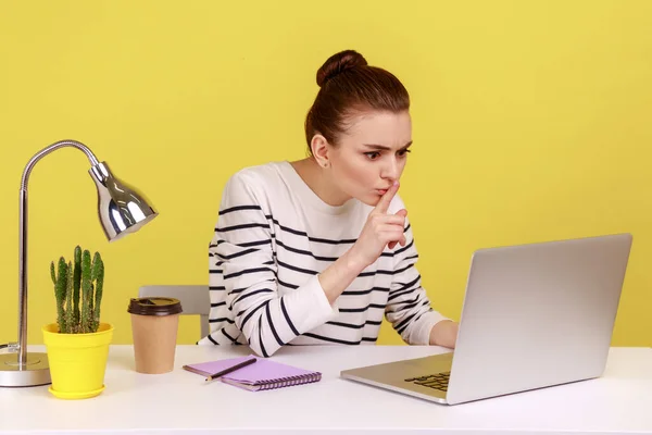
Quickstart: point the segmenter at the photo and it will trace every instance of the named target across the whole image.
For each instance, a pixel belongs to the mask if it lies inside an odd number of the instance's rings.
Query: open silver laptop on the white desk
[[[599,377],[631,241],[614,234],[479,249],[454,351],[340,375],[446,405]]]

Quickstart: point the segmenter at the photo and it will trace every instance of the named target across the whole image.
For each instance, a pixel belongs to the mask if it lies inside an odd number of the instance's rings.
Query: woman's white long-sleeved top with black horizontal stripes
[[[397,195],[388,212],[401,208]],[[333,306],[319,285],[371,211],[355,199],[328,206],[287,161],[231,176],[209,248],[211,333],[198,344],[248,344],[263,357],[284,345],[374,344],[386,315],[404,341],[427,345],[444,318],[421,287],[409,223],[405,247],[386,248]]]

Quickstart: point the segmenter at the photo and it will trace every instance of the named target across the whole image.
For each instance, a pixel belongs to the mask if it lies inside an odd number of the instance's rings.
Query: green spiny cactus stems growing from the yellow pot
[[[100,326],[100,308],[104,289],[104,262],[96,252],[75,248],[74,262],[61,257],[50,276],[57,299],[57,323],[62,334],[95,333]]]

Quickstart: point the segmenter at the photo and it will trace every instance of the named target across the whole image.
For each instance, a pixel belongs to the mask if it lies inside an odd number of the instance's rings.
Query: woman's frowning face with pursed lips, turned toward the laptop
[[[351,120],[337,146],[328,146],[329,173],[343,197],[375,207],[401,178],[412,144],[408,111],[365,112]]]

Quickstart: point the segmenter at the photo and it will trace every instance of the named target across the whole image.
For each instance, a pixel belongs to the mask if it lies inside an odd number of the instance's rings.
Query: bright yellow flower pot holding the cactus
[[[45,325],[52,385],[50,393],[61,399],[86,399],[104,389],[104,372],[113,325],[100,323],[97,333],[60,334],[59,325]]]

